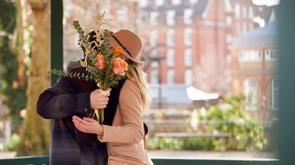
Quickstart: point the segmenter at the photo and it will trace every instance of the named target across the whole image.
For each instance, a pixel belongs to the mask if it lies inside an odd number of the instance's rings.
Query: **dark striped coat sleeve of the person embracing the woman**
[[[90,108],[90,92],[77,94],[79,82],[63,77],[46,89],[38,98],[37,113],[46,119],[59,119],[77,115],[87,117]]]

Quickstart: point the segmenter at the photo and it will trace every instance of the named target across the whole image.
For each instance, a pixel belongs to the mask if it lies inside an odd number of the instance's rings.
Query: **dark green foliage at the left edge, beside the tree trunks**
[[[13,34],[16,27],[16,4],[15,2],[0,0],[0,31]],[[0,74],[0,93],[5,95],[7,99],[3,104],[8,107],[9,114],[14,119],[20,119],[18,115],[20,110],[26,108],[26,85],[24,87],[13,88],[13,81],[18,80],[17,55],[12,54],[9,50],[11,38],[0,36],[0,65],[2,68]],[[18,45],[17,49],[18,50]],[[24,73],[25,74],[25,73]]]

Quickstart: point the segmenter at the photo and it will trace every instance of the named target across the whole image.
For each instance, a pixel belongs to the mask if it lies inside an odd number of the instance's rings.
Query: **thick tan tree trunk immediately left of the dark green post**
[[[50,86],[50,0],[29,0],[32,9],[32,47],[27,88],[27,118],[17,148],[18,156],[45,155],[50,149],[50,120],[36,113],[39,95]]]

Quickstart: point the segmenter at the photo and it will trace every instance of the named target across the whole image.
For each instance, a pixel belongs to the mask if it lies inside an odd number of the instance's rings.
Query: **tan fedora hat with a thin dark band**
[[[109,33],[111,35],[111,37],[109,37],[111,47],[114,49],[116,49],[117,46],[122,47],[122,55],[129,58],[137,66],[144,63],[143,61],[136,60],[143,49],[143,42],[137,34],[127,29],[120,29],[113,34],[111,34],[111,32]]]

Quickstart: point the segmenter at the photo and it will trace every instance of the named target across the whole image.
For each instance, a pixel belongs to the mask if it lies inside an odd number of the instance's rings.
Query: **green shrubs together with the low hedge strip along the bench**
[[[232,95],[225,100],[226,106],[211,106],[199,111],[200,133],[229,133],[226,138],[149,138],[149,149],[185,150],[246,150],[262,151],[268,145],[264,126],[246,114],[242,94]],[[209,122],[210,121],[210,122]],[[212,122],[213,121],[213,122]],[[203,129],[202,129],[203,128]]]

